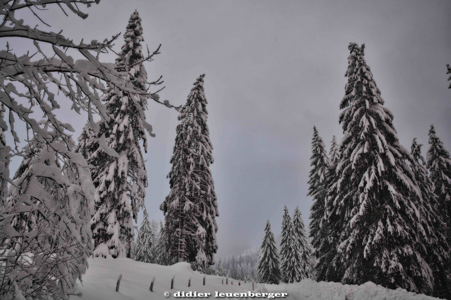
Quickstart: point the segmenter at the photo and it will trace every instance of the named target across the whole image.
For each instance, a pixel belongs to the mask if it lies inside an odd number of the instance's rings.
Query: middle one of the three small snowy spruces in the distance
[[[298,282],[305,278],[301,266],[301,251],[298,235],[294,229],[293,221],[288,213],[287,206],[283,209],[282,234],[280,240],[280,273],[282,282]]]

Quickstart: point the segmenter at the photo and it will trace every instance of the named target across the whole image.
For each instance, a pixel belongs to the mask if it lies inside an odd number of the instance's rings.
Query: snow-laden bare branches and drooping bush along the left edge
[[[114,52],[120,33],[102,42],[76,43],[63,36],[62,30],[41,30],[38,24],[16,18],[16,11],[29,9],[39,24],[50,26],[39,11],[52,4],[66,15],[75,13],[86,19],[88,14],[80,7],[99,2],[7,0],[0,5],[0,39],[6,42],[6,49],[0,50],[0,260],[7,260],[0,266],[0,290],[9,293],[7,299],[67,299],[94,250],[91,217],[95,188],[90,165],[74,152],[74,128],[58,115],[59,101],[71,101],[71,109],[78,114],[88,112],[89,126],[99,131],[99,124],[116,122],[103,97],[110,92],[129,94],[143,119],[142,127],[151,136],[152,127],[144,120],[147,99],[179,109],[168,100],[160,100],[158,92],[164,87],[149,91],[163,83],[161,77],[147,82],[147,78],[134,76],[136,65],[152,61],[161,45],[153,52],[148,49],[147,56],[133,64],[126,59],[120,66],[101,63],[101,55]],[[10,38],[29,45],[26,54],[14,51],[7,42]],[[136,89],[137,85],[144,89]],[[93,114],[100,116],[98,123]],[[36,115],[42,119],[35,119]],[[26,139],[25,134],[16,132],[16,120],[25,123]],[[11,145],[5,138],[8,131],[13,137]],[[117,156],[110,145],[100,142],[105,152]],[[10,178],[12,156],[21,156],[23,161]]]

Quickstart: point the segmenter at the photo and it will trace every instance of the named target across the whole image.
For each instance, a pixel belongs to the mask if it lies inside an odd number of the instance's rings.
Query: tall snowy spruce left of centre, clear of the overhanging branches
[[[181,108],[176,128],[171,191],[160,209],[165,215],[167,249],[177,261],[196,262],[200,270],[214,262],[218,249],[215,217],[219,216],[210,163],[212,149],[207,125],[207,100],[202,74]]]

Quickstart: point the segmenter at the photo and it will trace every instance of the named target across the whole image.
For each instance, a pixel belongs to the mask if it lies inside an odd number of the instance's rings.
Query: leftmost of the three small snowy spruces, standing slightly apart
[[[279,269],[279,254],[276,248],[276,239],[269,220],[265,226],[265,236],[261,243],[260,257],[257,265],[258,282],[279,284],[281,279]]]

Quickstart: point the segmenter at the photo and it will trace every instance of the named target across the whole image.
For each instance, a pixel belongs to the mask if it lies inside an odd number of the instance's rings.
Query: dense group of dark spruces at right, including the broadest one
[[[313,128],[308,195],[317,280],[373,281],[451,299],[450,154],[433,126],[426,160],[416,139],[410,152],[400,144],[364,49],[349,45],[344,138],[333,137],[327,154]]]

